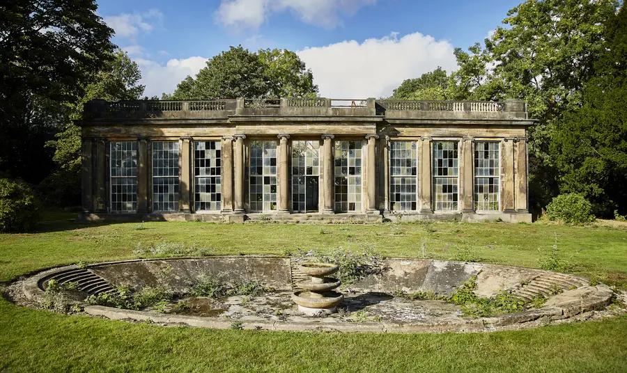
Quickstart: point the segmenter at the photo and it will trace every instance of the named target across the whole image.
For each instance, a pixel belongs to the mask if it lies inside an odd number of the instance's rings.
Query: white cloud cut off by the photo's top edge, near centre
[[[377,0],[222,0],[215,20],[235,29],[258,29],[272,13],[289,11],[302,22],[332,29],[340,14],[353,15]]]

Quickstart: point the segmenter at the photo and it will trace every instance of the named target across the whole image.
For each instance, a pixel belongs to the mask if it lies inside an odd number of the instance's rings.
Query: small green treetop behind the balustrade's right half
[[[394,100],[450,100],[451,79],[441,67],[419,78],[405,79],[392,93]]]

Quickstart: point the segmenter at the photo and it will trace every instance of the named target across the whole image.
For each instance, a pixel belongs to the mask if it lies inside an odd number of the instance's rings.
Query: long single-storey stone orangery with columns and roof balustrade
[[[530,221],[520,100],[95,100],[83,219]]]

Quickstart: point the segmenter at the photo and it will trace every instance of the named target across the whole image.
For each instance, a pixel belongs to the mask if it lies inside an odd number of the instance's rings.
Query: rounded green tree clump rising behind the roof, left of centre
[[[172,100],[210,100],[215,98],[302,97],[316,95],[311,70],[286,49],[265,49],[258,54],[242,48],[228,51],[207,61],[195,78],[181,81]]]

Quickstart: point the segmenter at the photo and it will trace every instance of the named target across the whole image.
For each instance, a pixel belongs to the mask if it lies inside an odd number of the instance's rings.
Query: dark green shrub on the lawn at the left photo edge
[[[39,204],[22,180],[0,178],[0,232],[26,232],[39,221]]]

